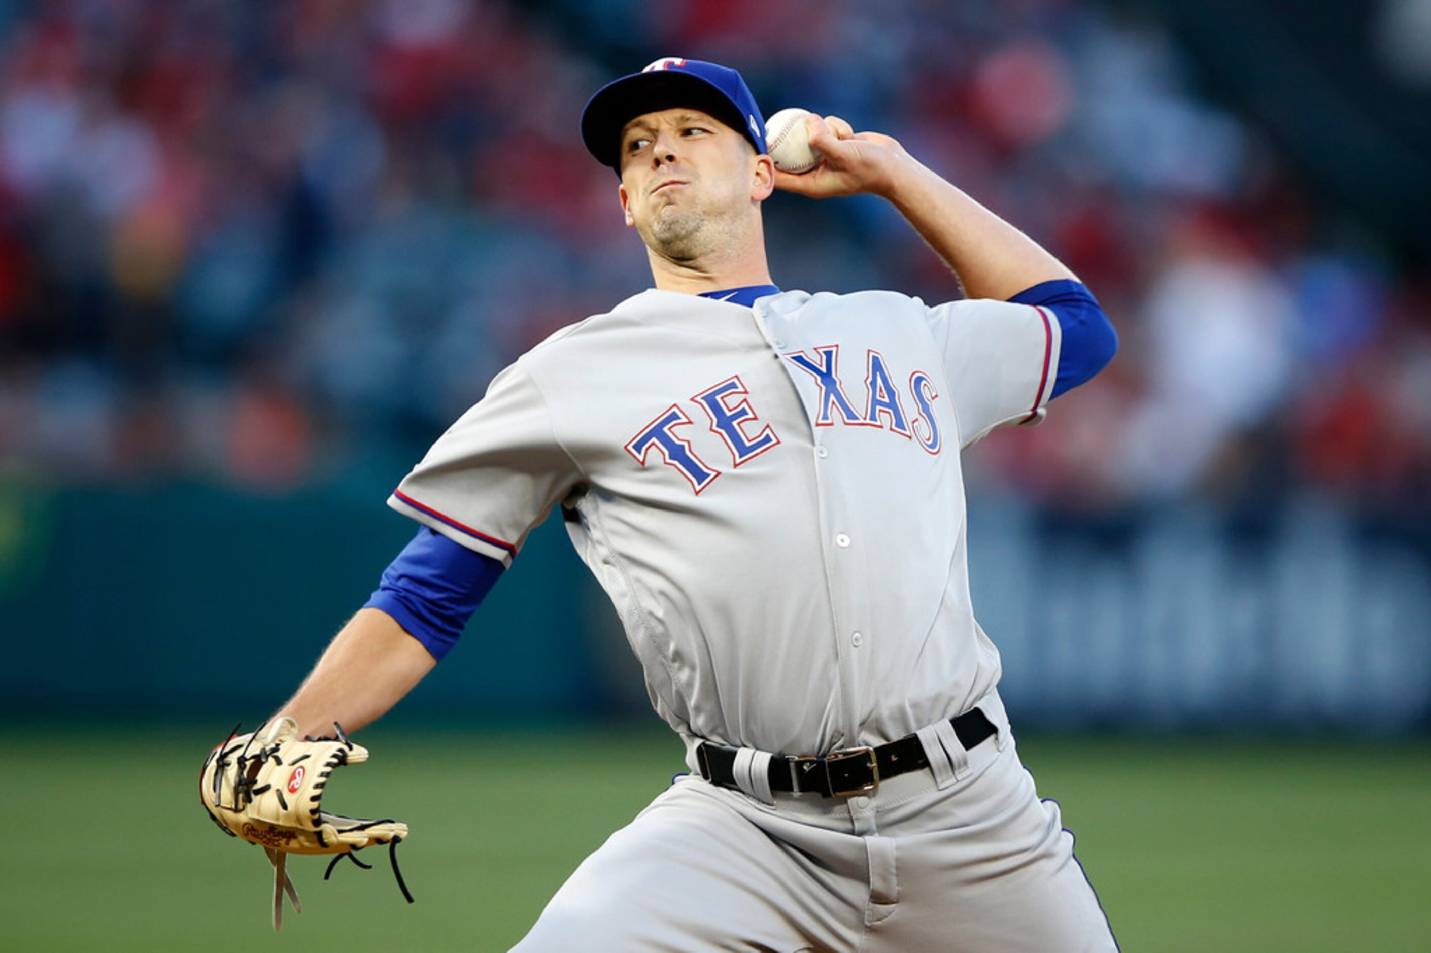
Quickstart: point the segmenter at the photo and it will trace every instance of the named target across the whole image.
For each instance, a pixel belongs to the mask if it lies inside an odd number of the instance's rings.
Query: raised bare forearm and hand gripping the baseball
[[[1040,282],[1078,276],[1037,242],[944,180],[892,136],[854,132],[837,116],[806,119],[823,162],[804,175],[776,170],[776,187],[824,199],[877,195],[900,210],[949,263],[969,298],[1006,300]]]

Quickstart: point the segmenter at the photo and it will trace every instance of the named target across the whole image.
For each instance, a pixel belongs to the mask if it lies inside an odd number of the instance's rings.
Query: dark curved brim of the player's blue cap
[[[601,87],[581,114],[581,139],[597,162],[621,167],[621,130],[645,113],[690,106],[750,137],[746,117],[714,83],[677,70],[624,76]],[[757,146],[758,149],[758,146]]]

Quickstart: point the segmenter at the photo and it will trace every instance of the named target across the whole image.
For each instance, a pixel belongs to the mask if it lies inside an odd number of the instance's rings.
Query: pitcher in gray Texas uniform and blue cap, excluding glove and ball
[[[821,165],[776,170],[746,83],[697,60],[591,99],[582,137],[654,288],[532,348],[434,444],[389,499],[422,528],[279,714],[381,715],[560,507],[690,774],[518,949],[1115,949],[999,700],[959,451],[1039,421],[1116,336],[899,142],[807,126]],[[774,189],[887,199],[966,299],[781,290]]]

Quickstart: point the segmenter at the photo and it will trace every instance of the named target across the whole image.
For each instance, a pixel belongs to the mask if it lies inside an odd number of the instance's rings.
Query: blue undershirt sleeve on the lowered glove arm
[[[384,571],[378,591],[363,608],[378,608],[395,618],[442,661],[502,568],[497,559],[422,527]]]

